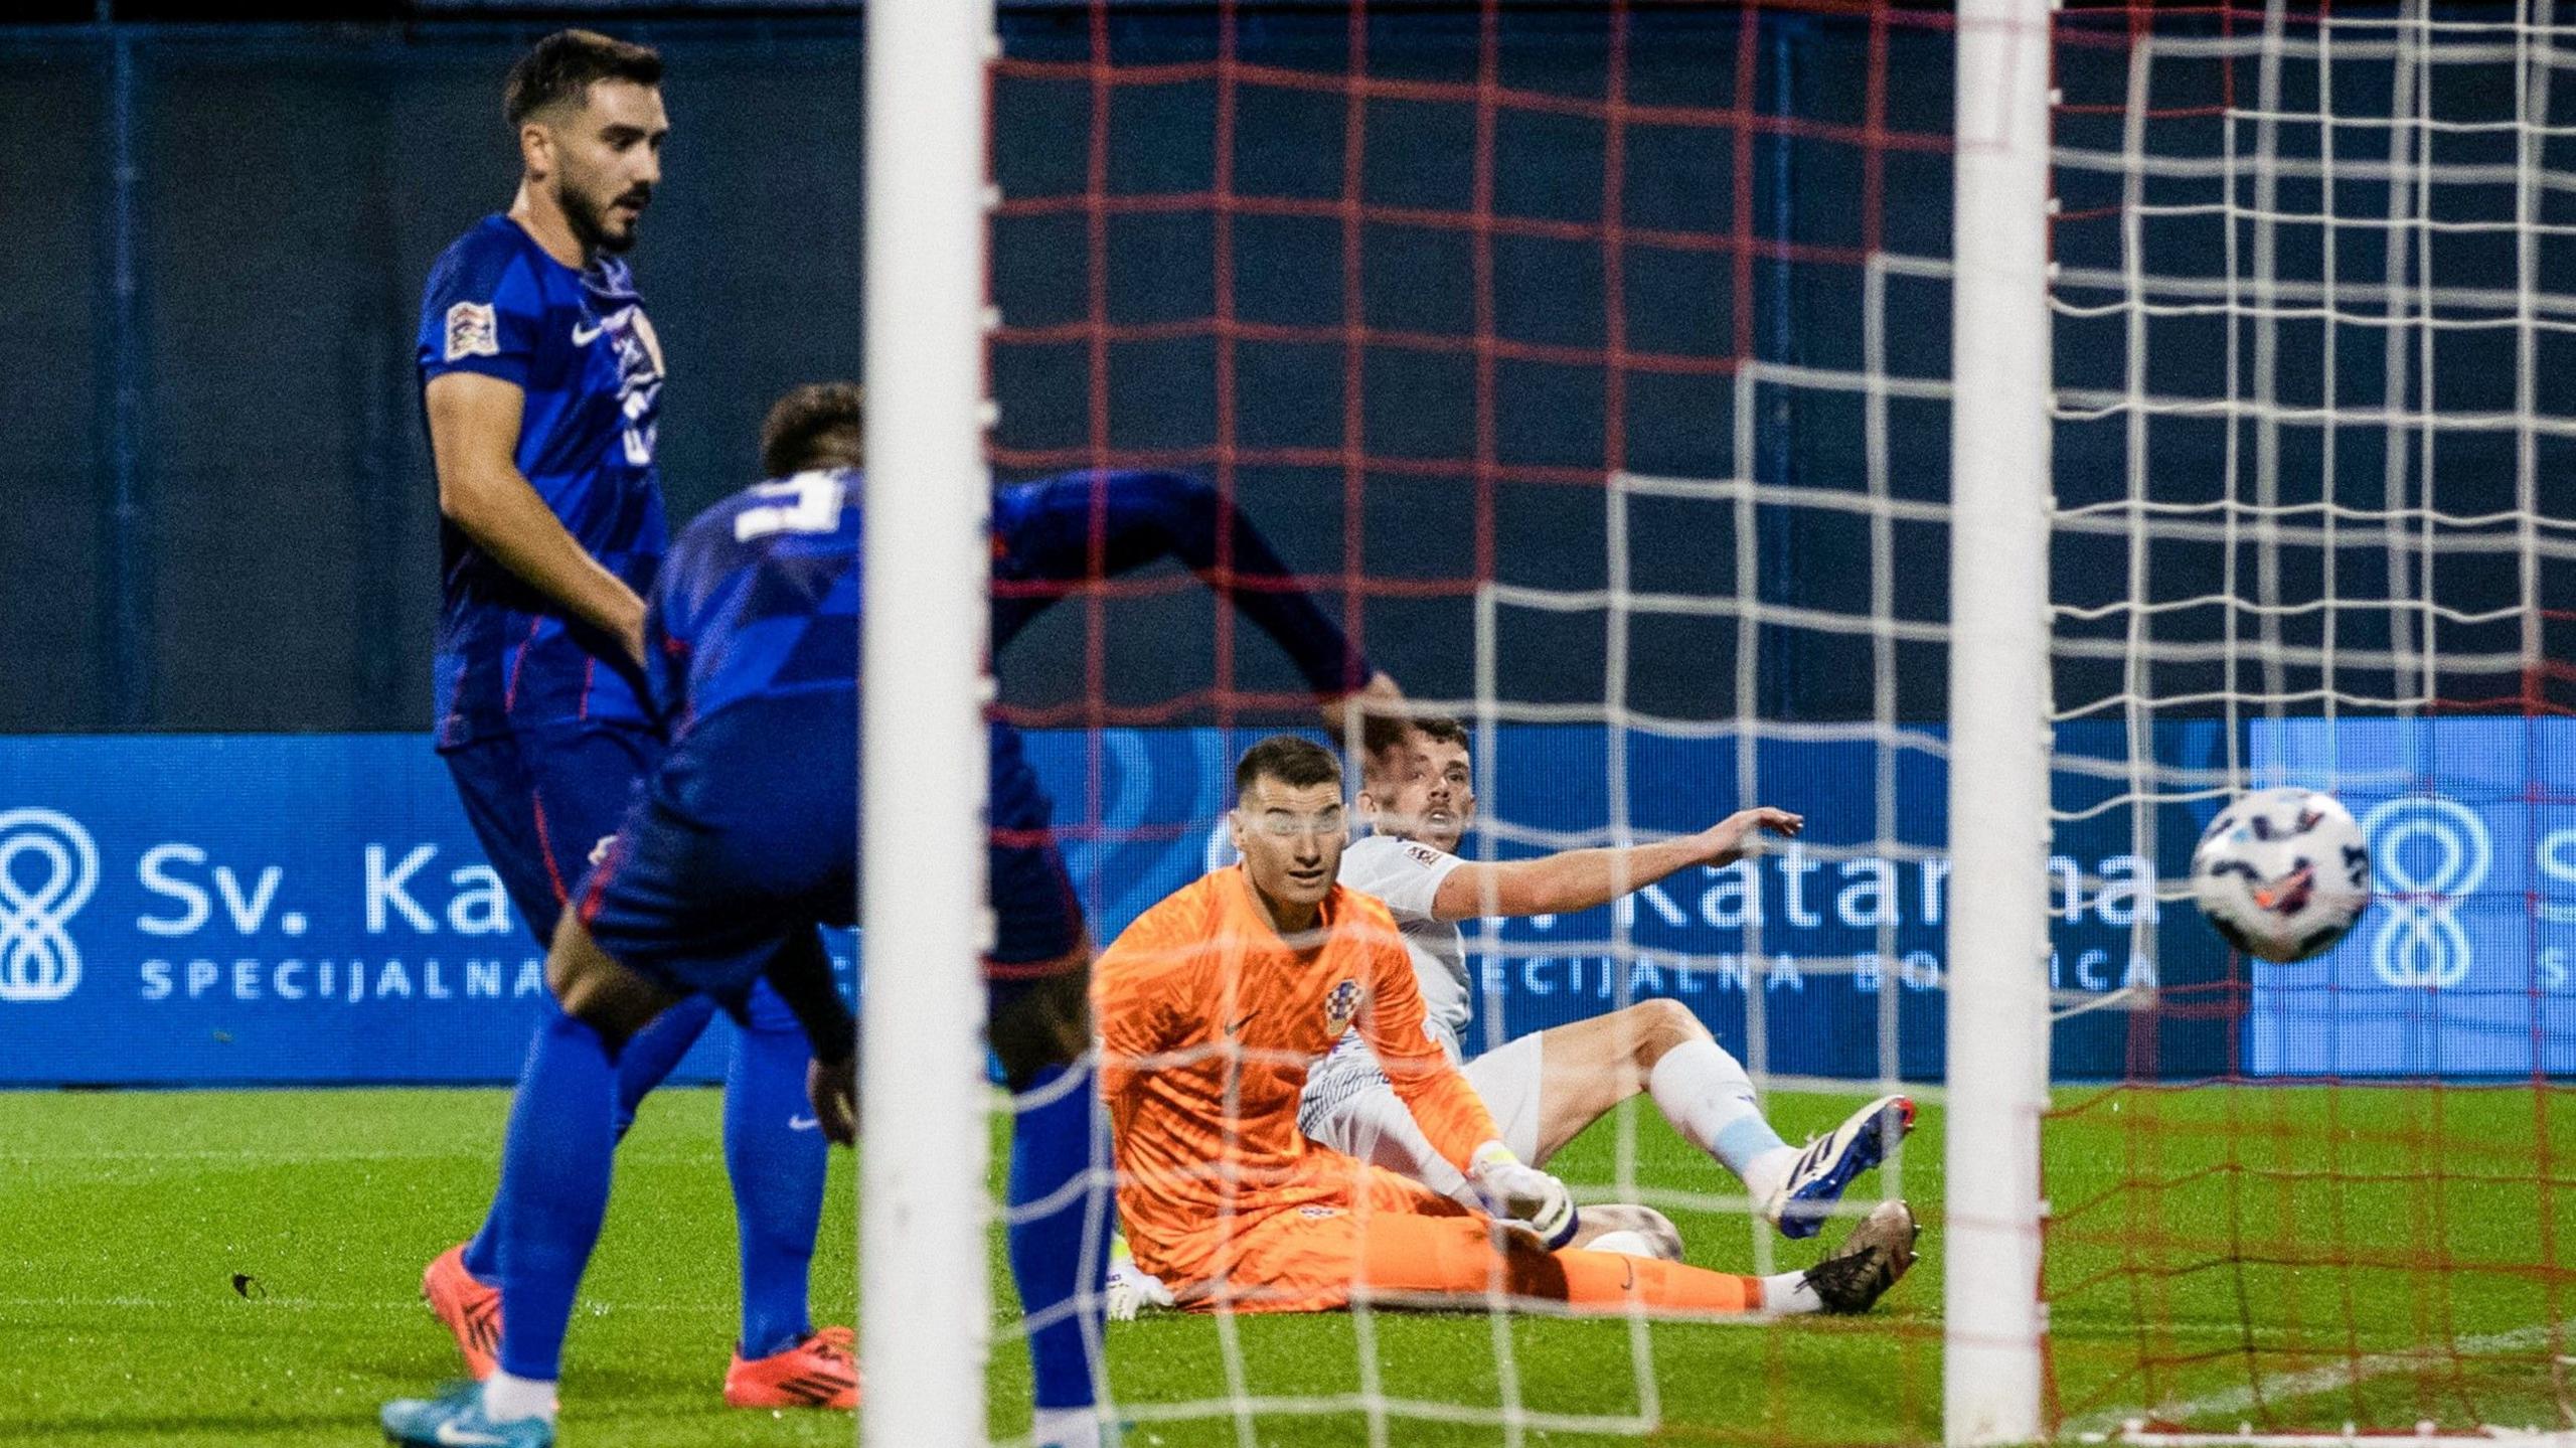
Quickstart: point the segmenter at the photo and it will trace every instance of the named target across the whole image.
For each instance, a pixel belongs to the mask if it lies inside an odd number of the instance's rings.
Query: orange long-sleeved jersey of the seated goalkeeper
[[[1306,1141],[1306,1067],[1358,1025],[1422,1134],[1458,1170],[1494,1116],[1425,1031],[1422,992],[1386,904],[1334,886],[1291,948],[1242,866],[1136,917],[1092,966],[1100,1095],[1118,1216],[1136,1265],[1180,1288],[1280,1211],[1352,1206],[1360,1165]]]

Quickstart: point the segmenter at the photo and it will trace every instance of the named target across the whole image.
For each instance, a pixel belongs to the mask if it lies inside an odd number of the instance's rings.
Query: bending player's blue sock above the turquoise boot
[[[559,1378],[564,1322],[608,1214],[616,1062],[600,1033],[546,1002],[500,1154],[492,1232],[500,1257],[500,1366]]]

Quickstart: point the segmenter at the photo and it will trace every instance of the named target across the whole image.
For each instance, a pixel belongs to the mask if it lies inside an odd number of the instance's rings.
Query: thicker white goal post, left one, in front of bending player
[[[981,1443],[989,0],[868,5],[860,1430]],[[899,850],[884,848],[902,840]],[[871,1152],[868,1141],[938,1141]]]

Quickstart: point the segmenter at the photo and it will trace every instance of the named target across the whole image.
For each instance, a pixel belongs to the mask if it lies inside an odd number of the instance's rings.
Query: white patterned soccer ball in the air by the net
[[[2192,899],[2228,946],[2306,961],[2370,907],[2370,843],[2331,794],[2257,788],[2200,835]]]

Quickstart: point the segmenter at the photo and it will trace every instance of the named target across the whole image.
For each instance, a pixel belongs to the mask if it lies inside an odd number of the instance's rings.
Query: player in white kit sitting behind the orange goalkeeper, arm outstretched
[[[1466,940],[1458,922],[1497,915],[1571,915],[1607,904],[1690,866],[1728,866],[1757,832],[1795,835],[1798,814],[1741,809],[1677,840],[1561,850],[1535,861],[1463,861],[1453,850],[1476,819],[1468,734],[1455,719],[1417,719],[1412,737],[1365,760],[1358,814],[1370,835],[1342,853],[1342,884],[1394,912],[1422,984],[1427,1031],[1466,1064],[1502,1126],[1502,1141],[1543,1167],[1558,1147],[1613,1105],[1651,1092],[1685,1141],[1734,1172],[1783,1237],[1814,1237],[1842,1190],[1914,1129],[1914,1103],[1883,1095],[1806,1149],[1762,1118],[1744,1067],[1677,1000],[1520,1036],[1466,1059]],[[1316,1062],[1298,1100],[1298,1129],[1337,1152],[1404,1172],[1473,1201],[1404,1110],[1360,1038],[1345,1036]]]

